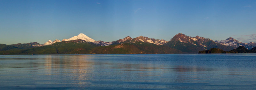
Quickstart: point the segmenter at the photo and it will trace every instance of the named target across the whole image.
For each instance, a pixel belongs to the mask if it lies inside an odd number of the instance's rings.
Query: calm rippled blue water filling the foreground
[[[256,54],[0,55],[0,89],[256,89]]]

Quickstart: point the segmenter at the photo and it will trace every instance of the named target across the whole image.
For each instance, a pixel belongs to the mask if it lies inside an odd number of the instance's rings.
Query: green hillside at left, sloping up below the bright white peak
[[[90,54],[94,47],[97,45],[78,39],[25,50],[0,51],[0,54]]]

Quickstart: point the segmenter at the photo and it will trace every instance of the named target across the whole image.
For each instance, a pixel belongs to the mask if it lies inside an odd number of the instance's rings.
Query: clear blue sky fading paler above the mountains
[[[64,39],[84,33],[105,42],[130,36],[256,42],[255,0],[0,0],[0,43]]]

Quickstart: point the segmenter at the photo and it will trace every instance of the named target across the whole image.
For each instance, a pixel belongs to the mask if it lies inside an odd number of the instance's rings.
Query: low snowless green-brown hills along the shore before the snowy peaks
[[[57,42],[52,45],[22,50],[0,51],[0,54],[153,54],[182,53],[180,50],[165,45],[135,42],[110,46],[97,46],[92,42],[78,39]]]

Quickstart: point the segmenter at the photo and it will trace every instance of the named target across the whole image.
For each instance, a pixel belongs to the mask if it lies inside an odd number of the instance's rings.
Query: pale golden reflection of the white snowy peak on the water
[[[88,61],[88,57],[52,57],[45,59],[45,71],[43,75],[61,76],[62,80],[76,80],[76,86],[88,84],[86,80],[92,75],[93,61]]]

